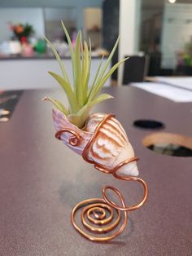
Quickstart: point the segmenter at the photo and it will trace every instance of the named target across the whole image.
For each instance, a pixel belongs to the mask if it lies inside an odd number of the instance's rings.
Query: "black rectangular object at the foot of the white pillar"
[[[126,56],[129,60],[124,63],[123,85],[130,82],[142,82],[146,74],[146,56]]]

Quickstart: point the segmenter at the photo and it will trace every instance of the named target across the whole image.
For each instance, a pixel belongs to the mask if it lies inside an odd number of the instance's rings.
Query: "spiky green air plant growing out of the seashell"
[[[116,51],[116,47],[119,42],[119,38],[116,41],[115,46],[113,47],[111,54],[108,56],[106,64],[103,65],[103,58],[101,59],[100,64],[98,65],[98,69],[94,76],[94,81],[92,85],[89,86],[89,76],[90,76],[90,66],[91,66],[91,42],[89,40],[89,46],[86,42],[82,42],[81,30],[77,34],[76,37],[76,45],[72,47],[72,41],[69,37],[68,30],[62,22],[63,31],[68,39],[68,46],[70,48],[70,54],[72,58],[72,73],[73,73],[73,86],[69,81],[68,74],[66,73],[63,62],[60,60],[60,57],[55,50],[55,47],[51,44],[51,42],[46,39],[46,42],[51,47],[51,50],[54,52],[56,59],[59,62],[59,67],[62,72],[62,76],[56,74],[54,72],[49,72],[52,77],[59,82],[59,85],[62,86],[65,94],[68,97],[68,108],[63,106],[63,104],[56,99],[51,99],[50,97],[44,98],[45,100],[50,100],[52,104],[55,105],[61,112],[68,117],[68,120],[72,122],[72,124],[82,128],[85,125],[85,121],[89,116],[89,112],[91,108],[94,107],[95,104],[102,102],[103,100],[112,98],[111,95],[101,94],[100,91],[103,89],[105,82],[107,79],[111,77],[111,74],[114,73],[116,68],[120,66],[125,60],[120,60],[117,64],[115,64],[108,72],[107,68],[111,64],[111,58]]]

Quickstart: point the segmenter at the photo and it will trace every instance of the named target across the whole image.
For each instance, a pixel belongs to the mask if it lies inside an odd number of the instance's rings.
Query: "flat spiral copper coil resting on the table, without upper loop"
[[[122,204],[124,201],[122,199]],[[84,207],[81,211],[81,225],[76,223],[76,212]],[[107,217],[107,212],[109,216]],[[116,211],[116,219],[114,220],[114,211]],[[91,216],[93,215],[93,216]],[[123,223],[120,224],[121,216],[120,210],[116,210],[102,198],[91,198],[78,203],[73,209],[71,214],[72,225],[76,231],[90,241],[110,241],[116,236],[119,236],[127,225],[127,212],[123,213]],[[89,223],[88,223],[89,221]],[[93,225],[94,224],[94,225]],[[95,227],[98,224],[98,227]],[[117,229],[117,230],[116,230]],[[106,235],[108,232],[113,232],[111,235]],[[98,236],[95,236],[98,234]]]

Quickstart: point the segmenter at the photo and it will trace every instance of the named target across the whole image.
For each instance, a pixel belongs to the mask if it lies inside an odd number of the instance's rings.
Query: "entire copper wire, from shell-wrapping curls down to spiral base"
[[[89,163],[94,164],[94,167],[102,171],[105,174],[112,174],[116,179],[126,180],[126,181],[137,181],[138,183],[142,184],[142,187],[144,189],[144,196],[142,197],[142,201],[140,201],[137,205],[133,206],[127,206],[124,201],[124,196],[114,187],[111,186],[104,186],[102,190],[103,198],[91,198],[87,199],[85,201],[79,202],[73,209],[71,214],[71,220],[72,225],[75,227],[76,231],[79,232],[82,236],[89,239],[90,241],[110,241],[114,239],[116,236],[119,236],[121,232],[124,231],[124,228],[126,227],[128,223],[128,212],[130,210],[137,210],[140,208],[146,201],[146,198],[148,196],[148,188],[144,180],[132,177],[132,176],[124,176],[117,174],[117,171],[121,166],[124,166],[125,164],[128,164],[132,161],[138,161],[138,157],[133,157],[131,159],[125,160],[121,162],[118,166],[116,166],[113,170],[107,170],[103,168],[103,166],[99,166],[97,163],[95,163],[92,160],[89,160],[88,152],[89,148],[91,148],[92,143],[94,142],[94,139],[96,138],[98,134],[98,130],[101,126],[103,126],[103,123],[110,119],[111,117],[114,117],[114,115],[109,114],[105,118],[103,118],[103,121],[101,121],[96,129],[94,130],[94,134],[92,135],[91,139],[89,140],[89,143],[87,143],[82,157],[85,161],[88,161]],[[74,130],[71,129],[62,129],[58,130],[55,134],[55,137],[57,139],[61,139],[61,135],[63,133],[70,133],[72,135],[72,138],[69,139],[68,143],[70,143],[72,146],[76,147],[81,143],[81,137],[76,134]],[[107,196],[107,190],[111,190],[112,192],[115,192],[117,196],[120,198],[120,205],[116,205],[115,202],[111,201]],[[84,207],[85,206],[85,207]],[[81,211],[81,226],[76,223],[76,212],[77,210],[80,210],[82,207],[83,210]],[[116,219],[114,220],[114,211],[116,211]],[[107,214],[108,213],[108,214]],[[121,215],[123,214],[123,221],[121,221]],[[84,227],[84,228],[83,228]],[[108,235],[108,232],[113,232],[112,234]],[[93,235],[90,235],[93,234]],[[102,234],[103,236],[94,236],[94,234]]]

